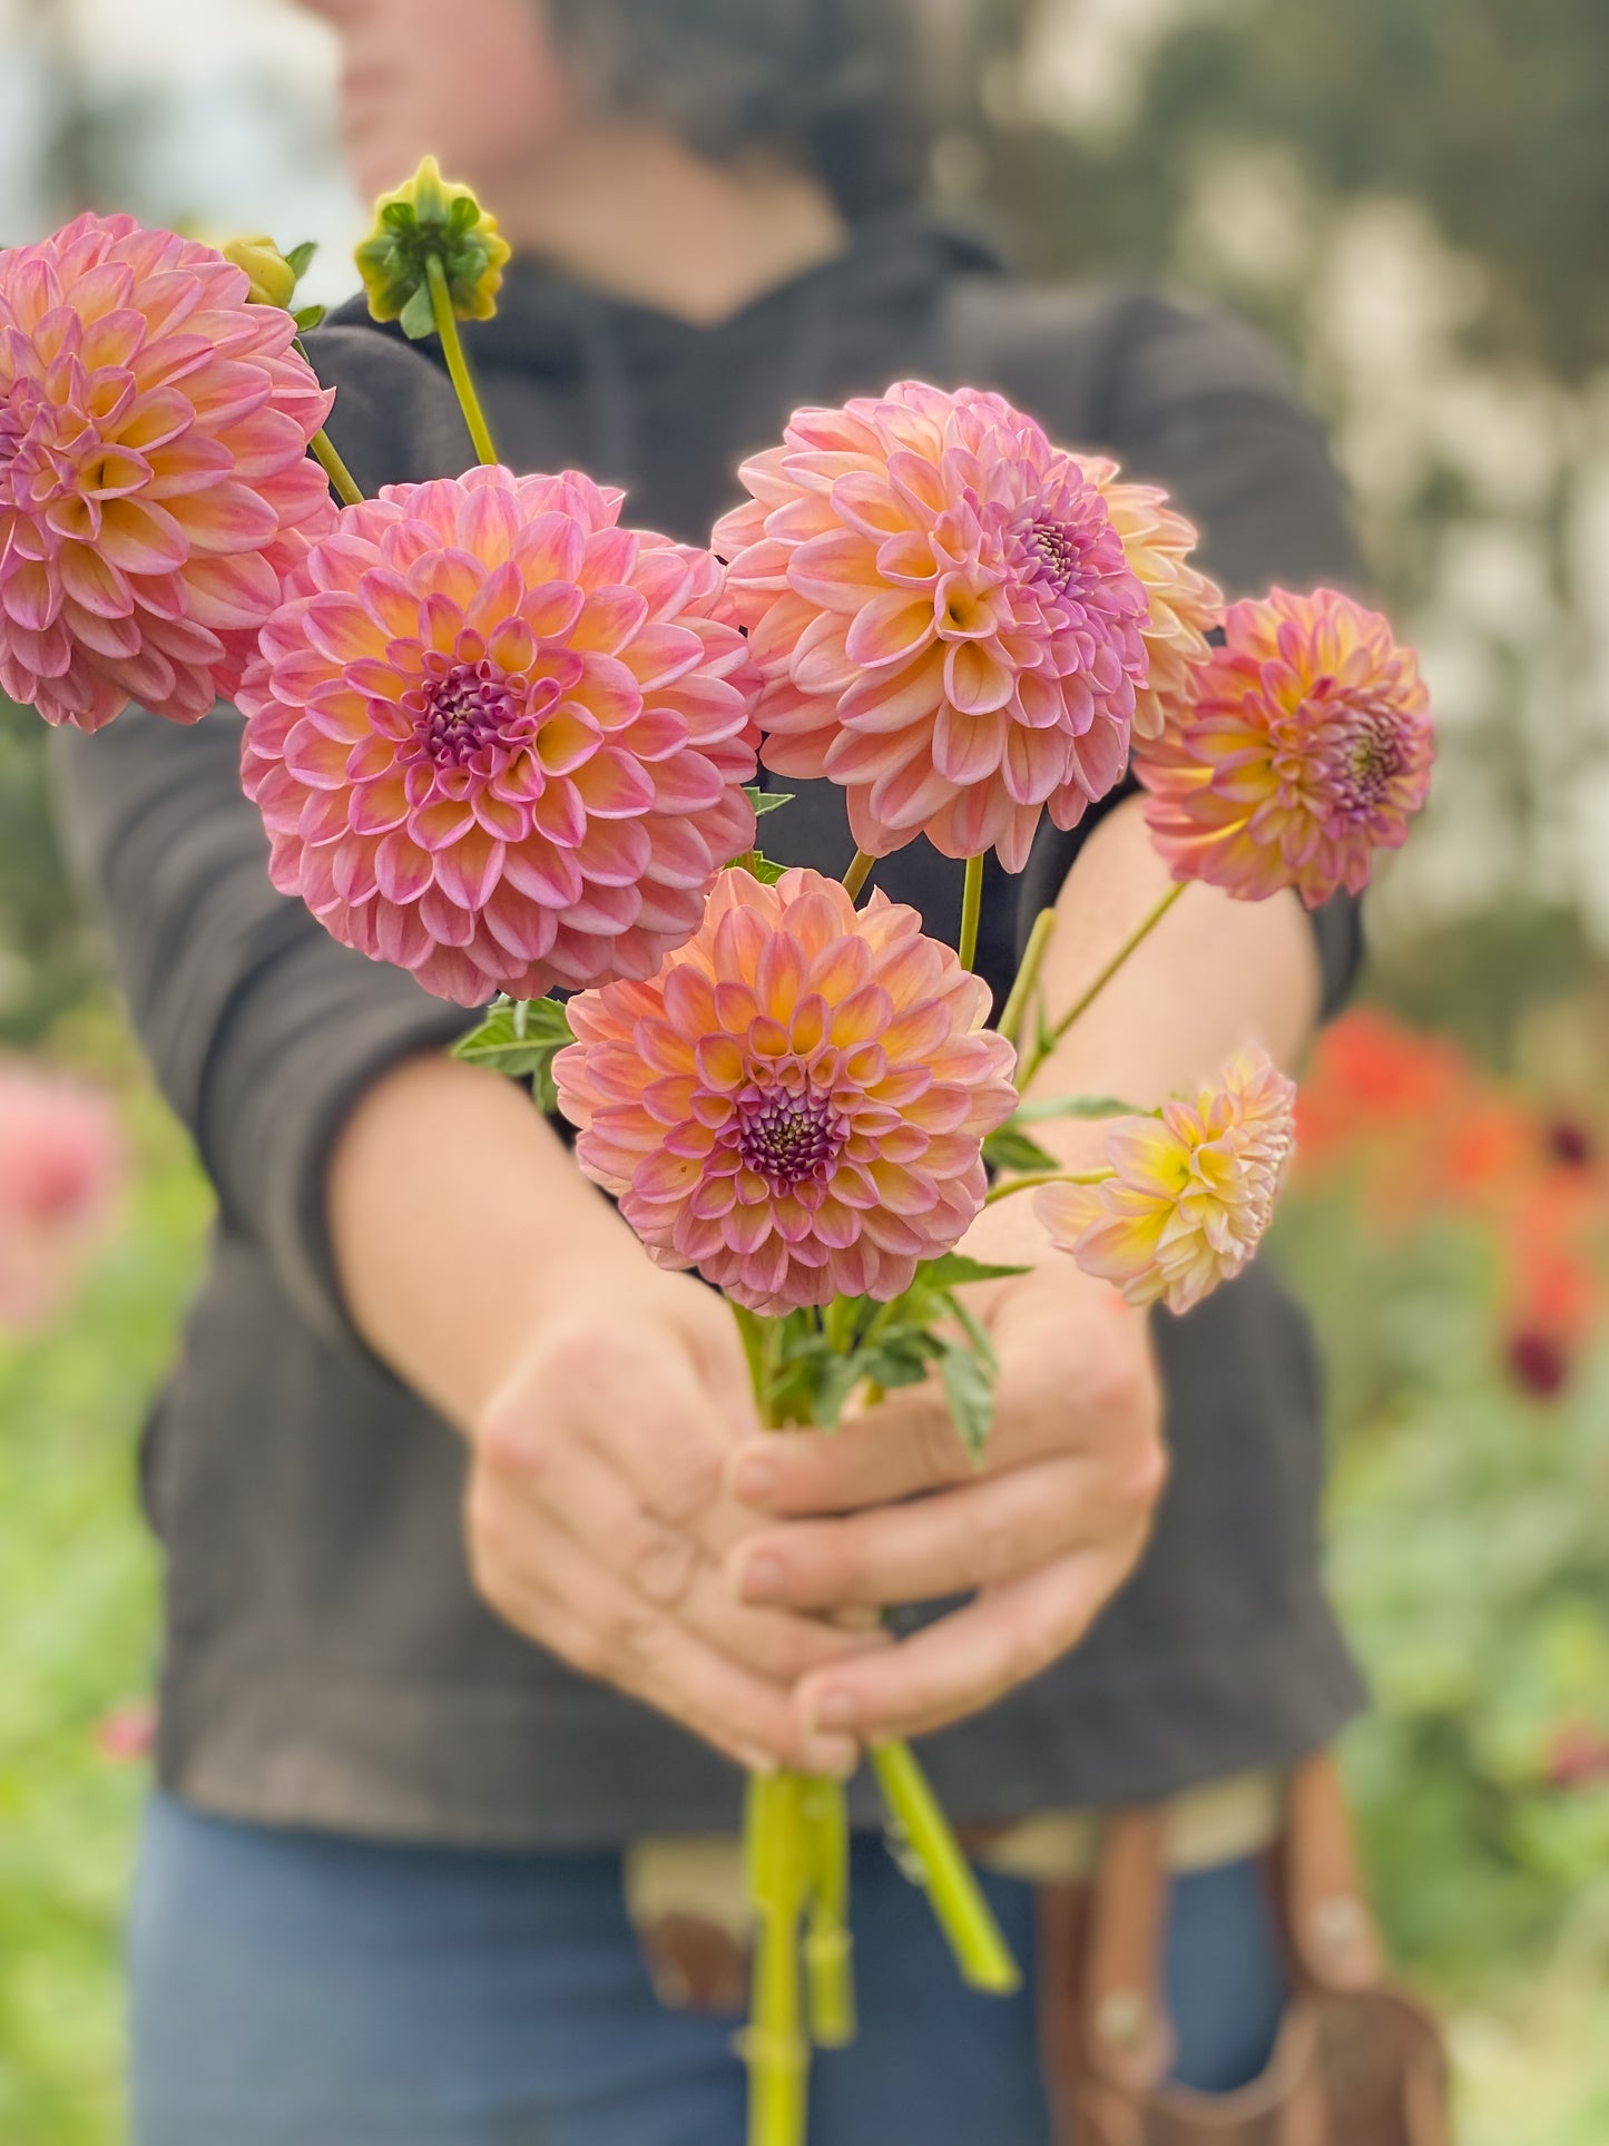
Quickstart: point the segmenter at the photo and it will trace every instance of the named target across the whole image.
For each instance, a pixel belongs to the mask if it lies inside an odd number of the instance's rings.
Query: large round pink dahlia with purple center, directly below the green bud
[[[240,687],[270,873],[474,1006],[652,976],[753,846],[753,693],[708,552],[590,479],[388,485],[285,584]]]

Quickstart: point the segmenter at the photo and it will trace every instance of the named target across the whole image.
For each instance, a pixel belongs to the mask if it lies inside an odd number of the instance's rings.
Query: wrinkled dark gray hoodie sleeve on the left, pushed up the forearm
[[[451,388],[414,352],[337,328],[311,354],[337,382],[330,429],[365,489],[461,464]],[[242,727],[219,706],[193,730],[129,708],[97,736],[56,732],[58,818],[221,1225],[266,1249],[320,1333],[350,1339],[326,1219],[335,1140],[382,1073],[474,1017],[275,893],[240,790]]]

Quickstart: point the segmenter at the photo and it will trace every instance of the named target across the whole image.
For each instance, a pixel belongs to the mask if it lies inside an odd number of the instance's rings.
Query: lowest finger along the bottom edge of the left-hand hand
[[[740,1766],[847,1775],[858,1747],[807,1728],[785,1685],[721,1655],[622,1586],[556,1528],[538,1539],[502,1498],[470,1491],[474,1582],[517,1631],[571,1667],[648,1700]]]

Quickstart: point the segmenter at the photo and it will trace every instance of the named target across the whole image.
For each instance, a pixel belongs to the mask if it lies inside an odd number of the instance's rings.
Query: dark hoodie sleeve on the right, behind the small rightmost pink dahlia
[[[1229,597],[1270,586],[1358,590],[1362,562],[1324,427],[1285,367],[1251,328],[1178,307],[1152,292],[1109,300],[1090,378],[1090,423],[1124,474],[1165,485],[1201,530],[1199,558]],[[1056,421],[1053,339],[1040,324],[1017,386]],[[1032,399],[1032,388],[1040,399]],[[1056,899],[1081,843],[1135,781],[1124,781],[1071,835],[1047,828],[1023,884],[1021,918]],[[1311,912],[1324,972],[1324,1015],[1345,1002],[1362,955],[1358,901]]]

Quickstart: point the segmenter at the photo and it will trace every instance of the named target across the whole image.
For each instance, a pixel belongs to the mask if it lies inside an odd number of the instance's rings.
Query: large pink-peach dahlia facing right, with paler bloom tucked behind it
[[[847,792],[862,850],[1028,863],[1128,762],[1148,603],[1101,487],[1000,395],[903,380],[798,410],[717,524],[764,762]]]

